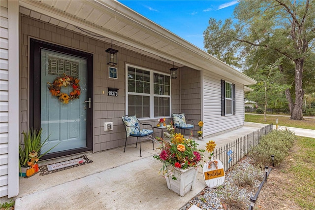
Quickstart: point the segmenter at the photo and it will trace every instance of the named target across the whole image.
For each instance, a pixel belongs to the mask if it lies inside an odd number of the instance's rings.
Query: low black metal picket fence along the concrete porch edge
[[[247,155],[253,147],[258,145],[261,137],[272,131],[273,124],[267,125],[257,131],[254,131],[246,136],[238,138],[225,146],[214,151],[214,159],[222,162],[225,171],[228,171],[239,160]]]

